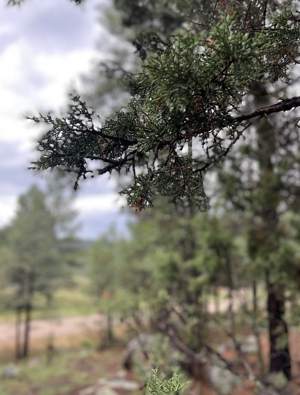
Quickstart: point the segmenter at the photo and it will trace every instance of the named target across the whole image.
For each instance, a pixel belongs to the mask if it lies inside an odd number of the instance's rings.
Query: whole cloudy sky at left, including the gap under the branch
[[[105,59],[111,36],[98,23],[96,6],[101,10],[107,4],[26,0],[21,7],[7,7],[0,0],[0,228],[15,215],[18,196],[33,183],[44,183],[27,167],[37,157],[36,142],[45,126],[25,115],[61,111],[70,87],[80,92],[81,75]],[[94,239],[112,224],[126,233],[128,217],[120,212],[125,201],[116,191],[115,181],[105,175],[80,183],[73,202],[79,237]]]

